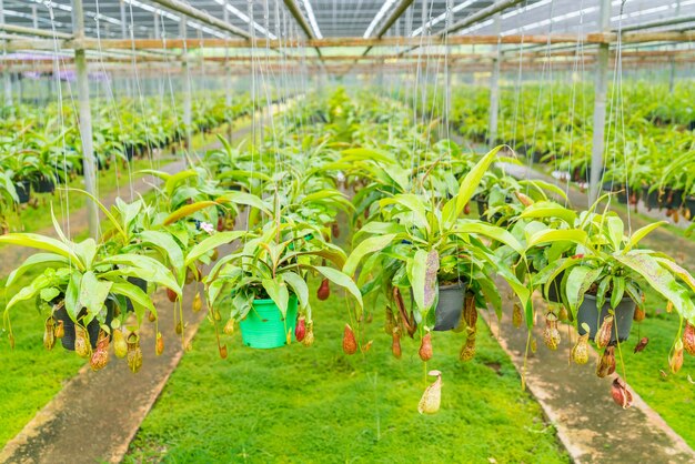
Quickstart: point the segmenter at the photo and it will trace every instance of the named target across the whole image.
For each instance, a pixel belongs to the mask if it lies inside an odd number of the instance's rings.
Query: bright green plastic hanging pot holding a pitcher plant
[[[290,296],[288,316],[282,313],[272,300],[255,300],[245,319],[239,323],[241,340],[252,349],[269,350],[288,344],[288,331],[294,340],[296,325],[296,296]]]

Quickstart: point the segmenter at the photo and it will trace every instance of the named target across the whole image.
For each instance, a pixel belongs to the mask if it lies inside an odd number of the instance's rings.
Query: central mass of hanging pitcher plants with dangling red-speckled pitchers
[[[610,211],[564,208],[550,199],[563,196],[554,185],[515,181],[496,170],[497,161],[518,162],[501,155],[501,147],[479,155],[433,140],[430,128],[414,125],[412,113],[389,99],[338,91],[292,111],[289,121],[318,114],[322,121],[278,124],[259,145],[221,139],[222,149],[188,171],[151,171],[163,180],[157,199],[102,206],[110,226],[99,241],[74,243],[58,224],[59,239],[0,236],[0,243],[42,250],[10,275],[9,288],[27,270],[44,270],[9,301],[6,320],[18,301],[37,299],[47,314],[48,349],[62,337],[63,346],[100,369],[113,345],[137,371],[139,327],[147,316],[157,324],[158,310],[171,310],[153,306],[149,295],[157,288],[174,302],[182,341],[181,294],[195,282],[192,310],[200,310],[201,282],[218,333],[232,334],[239,325],[245,345],[264,349],[295,340],[312,344],[308,282],[318,278],[320,300],[330,297],[331,285],[345,291],[346,354],[370,350],[371,317],[364,315],[379,304],[395,357],[402,337],[417,336],[419,355],[427,362],[436,349],[432,332],[454,331],[464,332],[459,356],[467,361],[475,353],[479,311],[492,307],[502,316],[506,307],[501,279],[516,299],[507,314],[515,324],[545,324],[551,350],[562,343],[558,321],[576,325],[573,359],[587,363],[594,341],[602,351],[600,376],[615,371],[615,350],[632,320],[645,314],[647,290],[682,315],[672,370],[681,369],[684,350],[695,353],[695,279],[663,253],[638,248],[661,223],[627,234]],[[243,223],[230,230],[240,214]],[[335,242],[341,229],[352,233],[352,243]],[[558,304],[534,304],[536,290]],[[158,353],[162,343],[159,334]],[[218,347],[226,357],[226,345]],[[620,380],[613,393],[629,405]],[[437,408],[434,389],[421,412]]]

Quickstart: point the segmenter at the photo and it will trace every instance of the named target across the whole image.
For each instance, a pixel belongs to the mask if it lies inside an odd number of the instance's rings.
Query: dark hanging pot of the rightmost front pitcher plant
[[[606,296],[606,300],[610,297]],[[629,336],[629,330],[632,329],[633,316],[635,315],[635,302],[629,297],[624,297],[614,310],[613,329],[611,331],[611,344],[615,344],[618,340],[621,343],[625,342]],[[580,335],[584,335],[586,331],[582,324],[588,325],[590,339],[593,339],[601,327],[603,320],[610,315],[608,310],[611,303],[606,303],[601,309],[601,314],[596,307],[596,296],[585,294],[584,301],[580,305],[577,311],[577,327]]]

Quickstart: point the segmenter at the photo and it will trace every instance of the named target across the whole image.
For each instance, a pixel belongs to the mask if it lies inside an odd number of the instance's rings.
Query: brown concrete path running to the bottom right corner
[[[512,302],[506,301],[502,321],[486,317],[500,345],[524,375],[531,394],[538,401],[557,436],[575,463],[693,463],[695,453],[664,420],[642,399],[635,396],[633,406],[621,410],[611,397],[613,376],[598,379],[595,374],[598,356],[586,365],[570,363],[570,351],[576,333],[561,327],[562,342],[557,351],[543,344],[543,324],[533,335],[536,353],[525,359],[527,331],[512,324]],[[536,295],[538,321],[545,303]],[[631,345],[632,346],[632,345]],[[525,369],[524,369],[525,363]]]

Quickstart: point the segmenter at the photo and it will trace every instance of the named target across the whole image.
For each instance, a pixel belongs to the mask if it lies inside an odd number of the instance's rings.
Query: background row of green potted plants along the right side
[[[604,190],[622,203],[663,209],[674,221],[695,218],[695,107],[693,85],[625,82],[613,90],[606,123]],[[584,84],[510,84],[501,88],[500,144],[544,163],[582,188],[591,178],[593,88]],[[441,98],[432,95],[430,105]],[[616,112],[620,108],[620,112]],[[488,138],[490,91],[460,87],[450,119],[467,140]],[[429,109],[432,111],[432,108]],[[435,109],[436,110],[436,109]],[[617,114],[617,115],[616,115]]]

